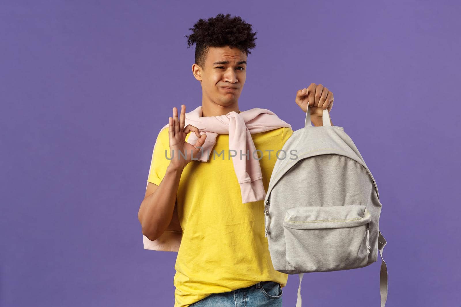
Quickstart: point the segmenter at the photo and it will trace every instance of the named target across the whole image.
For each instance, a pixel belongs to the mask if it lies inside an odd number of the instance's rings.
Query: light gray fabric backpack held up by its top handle
[[[266,237],[274,269],[299,275],[349,270],[383,259],[386,240],[379,231],[378,187],[370,170],[344,132],[312,126],[307,107],[305,127],[293,132],[278,155],[265,198]],[[387,266],[381,263],[381,307],[387,300]]]

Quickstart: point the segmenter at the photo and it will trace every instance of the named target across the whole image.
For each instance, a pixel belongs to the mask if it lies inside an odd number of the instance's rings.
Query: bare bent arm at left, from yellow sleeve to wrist
[[[182,168],[173,168],[170,164],[158,188],[141,203],[142,234],[151,241],[160,237],[171,222],[182,173]]]

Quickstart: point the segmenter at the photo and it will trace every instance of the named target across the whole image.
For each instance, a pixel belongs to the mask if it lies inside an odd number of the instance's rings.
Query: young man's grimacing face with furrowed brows
[[[246,61],[247,54],[238,48],[210,47],[205,67],[197,71],[200,76],[195,76],[206,98],[222,106],[235,104],[245,84]]]

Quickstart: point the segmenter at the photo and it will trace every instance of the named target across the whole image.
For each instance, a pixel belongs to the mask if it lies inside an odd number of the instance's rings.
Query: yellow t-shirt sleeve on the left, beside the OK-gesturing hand
[[[166,145],[165,146],[165,138],[166,138]],[[148,174],[148,182],[152,182],[155,185],[160,185],[163,177],[165,177],[166,168],[170,164],[170,147],[168,145],[168,128],[163,129],[160,131],[157,139],[155,140],[154,150],[152,151],[152,159],[150,162],[149,174]],[[166,156],[165,156],[166,150]]]

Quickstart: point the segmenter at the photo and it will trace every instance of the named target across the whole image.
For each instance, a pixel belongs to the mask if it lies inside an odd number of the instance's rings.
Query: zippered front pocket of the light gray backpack
[[[303,272],[366,266],[370,220],[362,205],[290,208],[283,223],[286,259]]]

